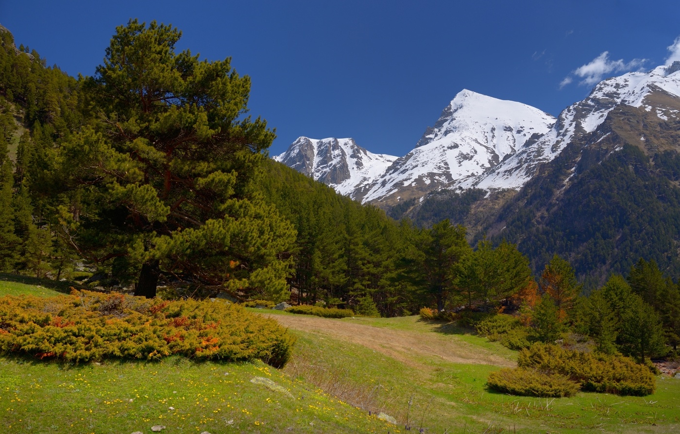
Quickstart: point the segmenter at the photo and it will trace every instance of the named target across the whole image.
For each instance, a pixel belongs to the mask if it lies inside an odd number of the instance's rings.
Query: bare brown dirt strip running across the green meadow
[[[336,339],[359,344],[381,352],[413,367],[422,367],[423,361],[439,357],[454,363],[514,366],[513,361],[462,340],[456,335],[435,333],[436,327],[417,327],[418,331],[395,330],[356,324],[350,320],[334,320],[317,316],[269,315],[284,327],[307,333],[330,335]]]

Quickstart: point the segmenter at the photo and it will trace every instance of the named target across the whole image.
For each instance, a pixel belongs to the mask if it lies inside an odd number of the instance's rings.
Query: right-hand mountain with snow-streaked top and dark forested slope
[[[539,163],[518,193],[440,190],[406,215],[419,224],[452,218],[473,238],[508,239],[537,272],[558,253],[589,288],[609,273],[627,273],[641,257],[677,278],[680,73],[668,69],[605,80],[568,107],[558,127],[537,141],[562,137],[549,148],[556,156]],[[515,158],[520,153],[490,176]]]

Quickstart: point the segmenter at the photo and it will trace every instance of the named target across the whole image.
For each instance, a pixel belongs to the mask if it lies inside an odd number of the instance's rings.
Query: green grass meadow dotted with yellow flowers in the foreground
[[[58,292],[0,280],[0,296],[22,294]],[[415,317],[335,321],[438,333],[515,360],[515,352],[449,324],[433,331]],[[648,397],[513,397],[486,387],[496,366],[426,353],[398,361],[324,333],[290,331],[298,340],[281,370],[177,356],[80,365],[1,356],[0,432],[151,433],[158,424],[164,434],[680,432],[680,380],[668,376],[657,377],[657,391]],[[379,412],[398,424],[378,419]]]

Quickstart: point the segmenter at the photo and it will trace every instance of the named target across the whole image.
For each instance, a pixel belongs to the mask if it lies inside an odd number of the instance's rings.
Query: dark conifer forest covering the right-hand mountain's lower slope
[[[663,173],[673,172],[680,157],[666,152],[662,159],[668,167],[662,167],[656,157],[652,164],[638,147],[625,142],[611,144],[620,148],[615,152],[602,146],[592,151],[600,152],[592,161],[602,162],[593,164],[583,156],[578,177],[554,202],[552,195],[564,188],[580,150],[579,144],[567,146],[549,170],[530,180],[500,212],[502,236],[518,243],[534,271],[554,254],[570,258],[588,290],[609,273],[627,273],[640,257],[653,259],[678,278],[680,189]]]

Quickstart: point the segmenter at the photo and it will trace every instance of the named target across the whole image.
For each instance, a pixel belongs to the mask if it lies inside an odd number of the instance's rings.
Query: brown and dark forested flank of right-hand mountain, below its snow
[[[680,99],[664,91],[680,110]],[[605,122],[568,144],[487,227],[519,244],[539,270],[558,253],[588,286],[654,259],[671,276],[680,269],[680,120],[621,105]]]

